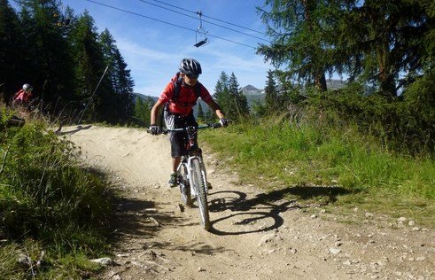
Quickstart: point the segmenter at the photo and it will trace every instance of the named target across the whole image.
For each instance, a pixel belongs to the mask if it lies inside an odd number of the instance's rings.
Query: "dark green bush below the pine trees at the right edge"
[[[308,110],[328,126],[356,124],[362,134],[376,136],[388,150],[433,153],[435,147],[435,79],[425,77],[393,101],[351,84],[345,89],[312,94]]]

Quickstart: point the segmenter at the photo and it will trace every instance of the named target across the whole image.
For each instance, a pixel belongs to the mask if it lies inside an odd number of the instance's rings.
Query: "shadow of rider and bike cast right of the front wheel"
[[[303,206],[299,206],[297,200],[285,199],[288,196],[297,196],[300,199],[327,197],[329,201],[333,202],[337,200],[339,195],[348,193],[350,191],[340,187],[319,186],[287,187],[282,190],[261,193],[255,198],[247,198],[247,195],[242,191],[216,191],[209,194],[209,198],[213,198],[210,199],[210,212],[230,210],[234,214],[211,221],[212,229],[210,231],[216,235],[225,236],[278,229],[284,223],[280,213],[303,208]],[[218,225],[222,222],[231,220],[236,222],[232,222],[228,229],[218,229]]]

